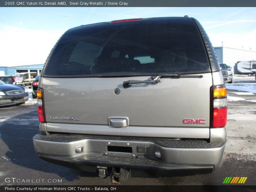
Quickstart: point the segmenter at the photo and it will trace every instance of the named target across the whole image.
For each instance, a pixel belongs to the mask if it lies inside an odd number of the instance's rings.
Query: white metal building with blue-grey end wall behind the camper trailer
[[[213,47],[219,63],[225,63],[232,67],[234,74],[236,73],[236,63],[238,61],[256,60],[256,52],[243,49],[235,49],[230,47]]]

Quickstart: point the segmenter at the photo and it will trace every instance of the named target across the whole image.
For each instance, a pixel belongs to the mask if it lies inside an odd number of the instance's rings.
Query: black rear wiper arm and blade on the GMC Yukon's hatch
[[[140,80],[128,80],[128,81],[124,81],[123,83],[123,87],[124,88],[128,88],[131,87],[132,84],[142,84],[142,83],[151,83],[151,84],[155,84],[155,83],[159,83],[161,82],[161,78],[202,78],[202,75],[180,75],[180,74],[176,74],[176,75],[172,75],[172,74],[160,74],[158,76],[152,76],[152,80],[145,80],[145,81],[140,81]]]

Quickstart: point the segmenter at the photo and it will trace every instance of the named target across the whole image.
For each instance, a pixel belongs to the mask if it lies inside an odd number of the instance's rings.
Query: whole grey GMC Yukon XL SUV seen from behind
[[[211,173],[227,134],[227,92],[212,44],[189,17],[69,29],[38,84],[38,156],[108,175]]]

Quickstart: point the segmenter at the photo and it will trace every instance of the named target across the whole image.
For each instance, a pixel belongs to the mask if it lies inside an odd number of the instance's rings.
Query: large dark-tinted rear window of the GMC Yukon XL
[[[209,72],[204,44],[189,18],[99,23],[68,30],[44,76],[136,76]]]

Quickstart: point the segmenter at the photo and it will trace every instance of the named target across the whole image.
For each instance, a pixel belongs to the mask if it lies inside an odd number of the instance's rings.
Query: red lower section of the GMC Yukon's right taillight
[[[213,109],[213,127],[224,127],[227,124],[228,108]]]

